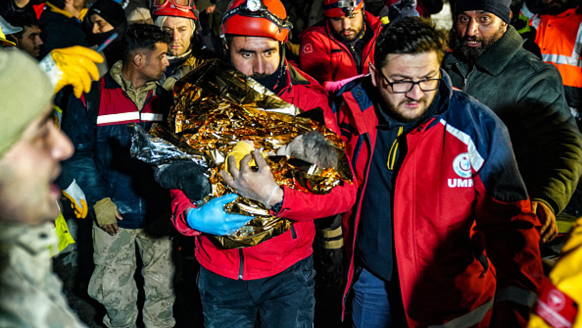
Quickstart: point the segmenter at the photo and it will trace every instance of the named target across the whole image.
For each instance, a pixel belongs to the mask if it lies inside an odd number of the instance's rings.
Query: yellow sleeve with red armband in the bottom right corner
[[[528,327],[582,327],[582,219],[574,224],[549,280],[540,288]]]

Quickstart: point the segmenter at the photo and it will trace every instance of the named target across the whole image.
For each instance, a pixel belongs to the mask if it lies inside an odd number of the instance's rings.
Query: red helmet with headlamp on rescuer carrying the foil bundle
[[[279,0],[232,0],[222,17],[222,34],[287,41],[293,25]]]

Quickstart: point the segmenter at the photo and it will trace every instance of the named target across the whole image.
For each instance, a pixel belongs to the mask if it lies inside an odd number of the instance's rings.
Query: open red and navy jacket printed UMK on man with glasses
[[[394,245],[407,322],[523,326],[543,277],[540,223],[505,125],[484,105],[452,91],[442,74],[439,108],[406,135],[407,153],[394,186]],[[342,90],[331,108],[339,115],[360,186],[356,206],[344,215],[351,254],[345,302],[378,125],[372,99],[379,96],[370,94],[377,89],[367,76]]]

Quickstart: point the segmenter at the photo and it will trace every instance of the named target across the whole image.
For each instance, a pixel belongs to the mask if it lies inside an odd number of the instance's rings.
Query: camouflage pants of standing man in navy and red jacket
[[[136,244],[143,268],[145,327],[173,327],[175,301],[172,239],[152,237],[146,229],[123,229],[113,236],[93,224],[93,260],[95,270],[88,294],[107,309],[103,322],[107,327],[136,327],[137,285]]]

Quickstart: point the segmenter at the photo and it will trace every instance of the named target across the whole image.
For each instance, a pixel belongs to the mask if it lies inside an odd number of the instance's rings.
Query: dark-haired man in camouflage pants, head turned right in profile
[[[105,306],[108,327],[132,327],[138,317],[134,273],[143,263],[146,327],[173,327],[172,239],[169,195],[150,165],[130,156],[127,124],[149,129],[164,122],[171,95],[159,85],[168,67],[168,34],[149,24],[127,27],[123,59],[91,91],[71,97],[62,129],[75,147],[63,171],[76,179],[93,206],[95,269],[88,294]],[[165,224],[169,225],[164,230]]]

